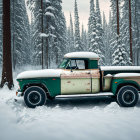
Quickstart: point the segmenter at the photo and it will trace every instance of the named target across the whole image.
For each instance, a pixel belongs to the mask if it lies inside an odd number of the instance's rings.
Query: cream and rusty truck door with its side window
[[[71,60],[61,75],[61,94],[90,94],[91,71],[86,60]]]

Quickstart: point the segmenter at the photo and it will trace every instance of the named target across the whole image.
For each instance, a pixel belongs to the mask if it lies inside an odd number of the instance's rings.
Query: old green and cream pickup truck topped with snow
[[[111,96],[123,107],[139,100],[140,67],[98,65],[92,52],[74,52],[64,56],[58,69],[27,71],[17,76],[17,96],[24,96],[30,108],[42,106],[56,96]]]

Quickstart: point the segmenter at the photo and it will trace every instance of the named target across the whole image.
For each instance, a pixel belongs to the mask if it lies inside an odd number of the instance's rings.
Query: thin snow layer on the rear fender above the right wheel
[[[140,73],[118,73],[113,77],[140,77]]]

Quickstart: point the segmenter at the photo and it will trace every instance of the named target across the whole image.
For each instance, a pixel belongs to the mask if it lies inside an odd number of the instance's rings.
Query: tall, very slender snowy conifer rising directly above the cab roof
[[[79,23],[77,0],[75,0],[74,14],[75,14],[75,49],[77,51],[81,51],[83,50],[83,48],[80,40],[80,27],[79,27],[80,23]]]

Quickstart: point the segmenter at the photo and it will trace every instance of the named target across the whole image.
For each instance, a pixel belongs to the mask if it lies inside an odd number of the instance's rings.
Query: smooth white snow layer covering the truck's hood
[[[61,73],[62,73],[62,70],[60,69],[25,71],[25,72],[20,73],[17,76],[17,79],[60,77]]]

